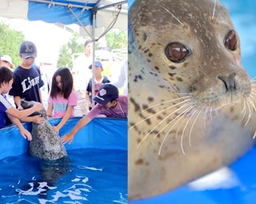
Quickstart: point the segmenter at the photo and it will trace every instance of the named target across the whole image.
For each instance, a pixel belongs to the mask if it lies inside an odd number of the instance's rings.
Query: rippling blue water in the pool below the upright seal
[[[127,203],[127,151],[68,151],[43,161],[23,154],[0,160],[0,203]]]

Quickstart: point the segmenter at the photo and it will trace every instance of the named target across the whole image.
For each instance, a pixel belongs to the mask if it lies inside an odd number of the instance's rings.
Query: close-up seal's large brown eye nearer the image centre
[[[180,63],[190,56],[190,49],[179,42],[172,42],[166,46],[166,57],[175,63]]]

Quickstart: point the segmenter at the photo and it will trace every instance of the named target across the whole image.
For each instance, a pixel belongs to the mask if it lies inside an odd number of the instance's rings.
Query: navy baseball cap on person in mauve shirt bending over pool
[[[99,89],[94,101],[98,104],[105,105],[111,100],[118,99],[118,88],[112,84],[103,84]]]

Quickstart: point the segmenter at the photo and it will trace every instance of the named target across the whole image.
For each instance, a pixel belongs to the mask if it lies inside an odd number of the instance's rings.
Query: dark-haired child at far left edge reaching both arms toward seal
[[[6,67],[0,67],[0,128],[10,124],[8,123],[8,119],[10,119],[18,127],[22,137],[31,140],[30,132],[23,127],[19,119],[29,116],[33,112],[41,110],[43,107],[42,104],[36,103],[34,107],[22,111],[14,108],[4,96],[4,94],[10,91],[13,82],[14,73]]]

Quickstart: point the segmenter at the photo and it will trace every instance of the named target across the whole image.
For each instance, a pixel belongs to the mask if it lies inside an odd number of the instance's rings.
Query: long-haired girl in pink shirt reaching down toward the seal
[[[54,126],[54,131],[58,132],[70,116],[74,116],[74,106],[77,103],[78,96],[73,90],[70,69],[58,69],[53,76],[46,112],[47,116],[62,118],[61,122]]]

